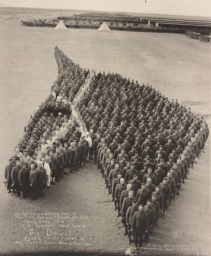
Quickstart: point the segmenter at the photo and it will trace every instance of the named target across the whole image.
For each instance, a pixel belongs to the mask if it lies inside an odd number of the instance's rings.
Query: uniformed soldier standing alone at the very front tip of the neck
[[[148,234],[149,229],[149,222],[148,222],[148,215],[146,212],[143,211],[143,205],[138,207],[138,212],[134,213],[132,226],[131,226],[131,233],[135,234],[135,246],[138,248],[138,239],[139,239],[139,248],[142,246],[142,237],[144,232]],[[143,248],[141,248],[141,252],[143,252]]]

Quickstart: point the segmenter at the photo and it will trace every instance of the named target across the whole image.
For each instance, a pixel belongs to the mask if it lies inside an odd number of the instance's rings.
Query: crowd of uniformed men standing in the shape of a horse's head
[[[142,247],[204,153],[206,120],[152,86],[82,69],[57,46],[59,76],[5,169],[8,193],[40,194],[94,161],[127,243]],[[139,243],[138,243],[139,242]]]

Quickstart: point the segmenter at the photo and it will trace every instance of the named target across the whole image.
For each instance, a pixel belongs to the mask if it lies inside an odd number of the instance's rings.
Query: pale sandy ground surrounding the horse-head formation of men
[[[31,13],[25,15],[32,16]],[[2,12],[0,16],[3,17]],[[55,45],[81,67],[95,69],[96,72],[118,72],[140,83],[150,83],[165,92],[166,96],[177,98],[178,102],[186,103],[193,111],[204,114],[210,123],[209,44],[176,34],[121,31],[101,34],[96,30],[78,29],[54,32],[51,28],[22,27],[18,21],[22,16],[17,22],[1,18],[0,23],[1,181],[4,167],[30,114],[45,99],[57,77]],[[143,243],[143,246],[150,248],[144,254],[211,255],[210,138],[203,157],[190,173],[180,198],[177,197],[171,211],[167,212],[167,218],[159,219],[160,227],[155,228],[155,237],[150,238],[150,245]],[[109,202],[111,196],[105,192],[103,180],[93,163],[51,186],[45,199],[32,202],[19,200],[6,193],[3,183],[0,191],[1,255],[46,255],[50,252],[51,255],[97,255],[108,251],[103,255],[123,255],[122,248],[130,247],[123,236],[120,218],[116,218],[113,203]],[[56,223],[50,228],[51,231],[69,234],[70,230],[70,236],[77,239],[74,241],[78,242],[82,237],[84,243],[90,244],[28,244],[24,236],[29,236],[32,227],[35,233],[39,232],[42,240],[47,229],[35,227],[34,223],[28,226],[24,220],[30,219],[15,219],[15,212],[59,212],[59,216],[63,216],[61,212],[68,212],[70,217],[77,216],[73,220],[64,220],[63,224],[70,224],[70,227],[60,227]],[[50,220],[51,224],[53,222]],[[85,227],[72,227],[72,224]],[[176,230],[182,233],[181,237],[172,237]],[[67,235],[54,234],[54,237],[63,236]],[[15,245],[16,241],[20,244]],[[174,250],[167,251],[165,244],[173,246]],[[157,250],[159,245],[164,250]]]

